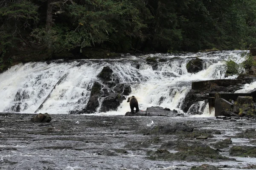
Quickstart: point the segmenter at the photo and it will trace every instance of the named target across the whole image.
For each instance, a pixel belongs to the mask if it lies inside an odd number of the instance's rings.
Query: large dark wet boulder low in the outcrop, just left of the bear
[[[103,100],[101,111],[115,111],[123,100],[125,100],[125,96],[122,96],[122,94],[110,94]]]

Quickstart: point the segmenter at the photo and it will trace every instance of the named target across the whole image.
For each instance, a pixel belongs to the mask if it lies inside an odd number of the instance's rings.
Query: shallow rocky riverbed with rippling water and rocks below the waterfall
[[[33,116],[0,113],[0,169],[256,168],[254,119],[57,114],[32,123]]]

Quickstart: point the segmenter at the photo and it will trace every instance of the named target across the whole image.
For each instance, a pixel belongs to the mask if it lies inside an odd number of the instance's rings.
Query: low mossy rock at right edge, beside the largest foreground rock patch
[[[233,146],[229,150],[230,156],[256,157],[255,146]]]

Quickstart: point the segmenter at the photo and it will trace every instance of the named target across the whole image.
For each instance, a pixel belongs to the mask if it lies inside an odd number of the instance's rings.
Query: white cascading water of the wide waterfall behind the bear
[[[81,110],[87,104],[93,82],[98,79],[97,75],[104,66],[109,66],[121,83],[131,85],[132,91],[129,96],[137,97],[140,110],[146,110],[151,106],[162,106],[179,111],[186,93],[191,89],[191,82],[225,78],[224,61],[232,59],[241,63],[244,60],[241,57],[242,53],[248,51],[189,53],[178,56],[124,55],[120,59],[112,60],[19,64],[0,74],[0,112],[34,113],[51,91],[49,99],[38,112],[55,114]],[[145,61],[147,57],[159,57],[166,59],[166,62],[158,62],[158,65],[152,68]],[[186,70],[186,63],[193,57],[204,60],[204,70],[196,74],[188,73]],[[137,65],[140,65],[139,69]],[[67,76],[56,85],[65,74]],[[227,77],[230,78],[236,76]],[[129,105],[124,100],[117,111],[97,114],[124,115],[129,110]]]

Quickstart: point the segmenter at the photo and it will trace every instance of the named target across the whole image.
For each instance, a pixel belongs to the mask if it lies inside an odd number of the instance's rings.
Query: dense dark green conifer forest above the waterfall
[[[62,53],[255,46],[255,0],[0,0],[0,71]]]

